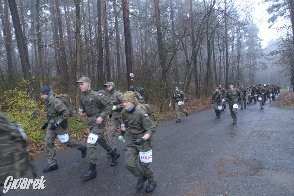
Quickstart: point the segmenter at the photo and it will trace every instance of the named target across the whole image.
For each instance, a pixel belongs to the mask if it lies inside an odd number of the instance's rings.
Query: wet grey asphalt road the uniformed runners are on
[[[294,110],[275,102],[230,110],[216,118],[213,109],[158,125],[153,135],[153,169],[157,187],[136,192],[136,177],[124,168],[124,143],[117,140],[118,164],[98,145],[97,177],[84,182],[88,156],[76,149],[57,153],[58,170],[44,173],[46,157],[35,161],[46,188],[22,195],[294,195]],[[239,104],[240,108],[240,104]],[[27,176],[31,178],[30,176]],[[9,190],[3,195],[16,195]]]

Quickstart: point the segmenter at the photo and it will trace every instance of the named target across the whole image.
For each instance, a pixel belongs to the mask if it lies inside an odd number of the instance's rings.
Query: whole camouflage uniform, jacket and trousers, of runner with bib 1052
[[[124,109],[125,110],[125,109]],[[139,152],[148,152],[153,149],[152,134],[155,133],[157,126],[149,118],[146,111],[140,106],[136,106],[135,110],[139,110],[139,117],[136,116],[138,113],[134,111],[133,113],[125,112],[123,117],[123,122],[126,127],[129,127],[128,143],[125,148],[125,167],[131,171],[136,177],[142,179],[146,177],[148,182],[154,182],[153,171],[149,163],[142,163],[139,159],[139,164],[142,170],[138,167],[136,160],[138,158]],[[136,145],[134,142],[143,137],[145,133],[148,133],[150,138],[146,140],[142,145]]]

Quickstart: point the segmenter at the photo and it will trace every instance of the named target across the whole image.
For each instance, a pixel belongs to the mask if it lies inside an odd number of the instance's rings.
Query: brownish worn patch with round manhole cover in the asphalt
[[[258,172],[260,165],[243,158],[228,157],[218,160],[215,164],[218,172],[238,175],[253,175]]]

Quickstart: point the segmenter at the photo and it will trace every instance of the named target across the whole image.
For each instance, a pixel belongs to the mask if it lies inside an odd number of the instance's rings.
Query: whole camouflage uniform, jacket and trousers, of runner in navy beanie
[[[49,123],[45,137],[45,146],[48,166],[51,167],[57,164],[54,140],[56,139],[57,135],[64,135],[69,133],[67,118],[69,118],[70,113],[63,101],[60,98],[54,97],[52,91],[50,91],[48,97],[45,100],[45,109],[47,112],[45,123]],[[59,126],[52,130],[51,124],[57,122],[60,123]],[[73,140],[68,140],[62,144],[69,148],[76,148],[78,150],[83,150],[84,148],[83,143]]]

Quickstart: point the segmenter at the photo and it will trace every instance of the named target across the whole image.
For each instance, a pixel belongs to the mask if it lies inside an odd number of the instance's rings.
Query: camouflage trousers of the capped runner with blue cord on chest
[[[104,136],[104,129],[105,120],[103,120],[100,125],[95,125],[90,129],[91,133],[98,135],[98,139],[95,144],[87,143],[87,154],[89,156],[90,164],[96,164],[98,162],[97,143],[101,145],[108,153],[113,153],[114,151],[106,141]]]

